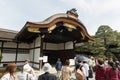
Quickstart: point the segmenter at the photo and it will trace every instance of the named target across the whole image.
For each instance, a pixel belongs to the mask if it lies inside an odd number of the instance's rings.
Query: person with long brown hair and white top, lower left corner
[[[16,77],[14,75],[14,72],[16,71],[16,64],[15,63],[9,63],[6,66],[6,70],[4,75],[1,77],[0,80],[15,80]]]

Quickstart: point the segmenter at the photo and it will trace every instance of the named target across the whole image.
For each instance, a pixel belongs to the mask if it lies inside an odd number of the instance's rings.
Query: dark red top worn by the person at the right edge
[[[120,72],[118,69],[113,70],[112,68],[106,69],[106,80],[120,80]]]

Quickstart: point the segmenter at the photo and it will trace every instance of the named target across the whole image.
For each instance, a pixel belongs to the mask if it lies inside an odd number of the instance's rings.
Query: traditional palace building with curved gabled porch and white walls
[[[18,66],[30,59],[34,68],[40,69],[43,56],[55,64],[73,59],[78,43],[93,41],[75,9],[58,13],[41,22],[26,22],[19,31],[0,29],[1,66],[15,62]]]

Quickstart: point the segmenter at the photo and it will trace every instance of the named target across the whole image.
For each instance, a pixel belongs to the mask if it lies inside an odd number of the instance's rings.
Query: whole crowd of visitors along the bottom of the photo
[[[34,69],[29,65],[29,60],[25,60],[25,65],[18,80],[35,80]],[[16,64],[9,63],[6,66],[5,73],[0,80],[16,80],[14,73],[16,72]],[[76,60],[74,70],[70,67],[70,61],[66,60],[65,65],[62,64],[60,58],[56,62],[56,74],[51,73],[52,66],[49,63],[43,65],[44,73],[39,75],[38,80],[72,80],[72,73],[75,74],[74,80],[89,80],[93,78],[95,73],[95,80],[120,80],[120,63],[117,59],[112,58],[90,58],[89,60]]]

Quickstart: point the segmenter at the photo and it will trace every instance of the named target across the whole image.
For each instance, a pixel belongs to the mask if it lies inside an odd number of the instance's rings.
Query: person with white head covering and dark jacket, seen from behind
[[[51,65],[49,63],[45,63],[43,66],[44,74],[40,75],[38,80],[57,80],[57,77],[54,74],[50,73]]]

